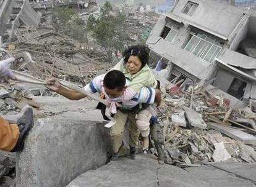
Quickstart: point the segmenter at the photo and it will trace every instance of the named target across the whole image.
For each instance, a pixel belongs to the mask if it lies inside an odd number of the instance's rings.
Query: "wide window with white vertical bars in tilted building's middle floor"
[[[190,33],[189,42],[184,47],[185,50],[208,62],[214,61],[221,48],[222,45],[219,41],[202,33]]]

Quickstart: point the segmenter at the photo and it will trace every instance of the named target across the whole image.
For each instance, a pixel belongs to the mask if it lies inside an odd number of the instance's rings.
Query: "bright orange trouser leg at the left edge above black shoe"
[[[19,127],[17,124],[9,124],[0,116],[0,149],[12,151],[19,139]]]

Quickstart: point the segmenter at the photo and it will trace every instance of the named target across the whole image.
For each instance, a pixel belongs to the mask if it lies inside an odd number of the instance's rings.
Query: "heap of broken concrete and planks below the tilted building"
[[[229,100],[202,88],[184,92],[170,84],[159,109],[165,162],[198,167],[207,162],[256,162],[254,103],[229,106]]]

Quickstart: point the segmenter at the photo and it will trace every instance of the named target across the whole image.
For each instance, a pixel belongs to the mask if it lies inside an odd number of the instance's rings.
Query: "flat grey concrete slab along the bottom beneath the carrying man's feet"
[[[242,168],[241,172],[246,168]],[[221,187],[255,186],[250,180],[230,175],[210,165],[181,169],[173,165],[159,165],[155,158],[144,154],[135,160],[121,157],[115,162],[75,178],[67,187]]]

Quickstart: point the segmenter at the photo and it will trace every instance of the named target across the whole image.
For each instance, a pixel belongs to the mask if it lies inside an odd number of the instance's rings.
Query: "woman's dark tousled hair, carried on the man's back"
[[[124,57],[124,63],[128,62],[130,55],[138,56],[140,62],[142,62],[142,68],[148,63],[149,60],[149,49],[146,46],[130,46],[124,51],[122,57]]]

